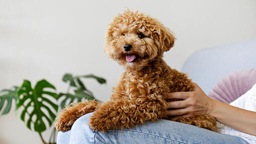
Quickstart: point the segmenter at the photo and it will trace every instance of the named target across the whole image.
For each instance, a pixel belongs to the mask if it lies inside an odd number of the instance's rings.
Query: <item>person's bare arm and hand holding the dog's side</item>
[[[208,97],[196,84],[194,90],[188,92],[172,92],[166,95],[166,99],[180,98],[183,100],[168,102],[168,115],[194,116],[199,113],[207,113],[216,118],[217,121],[256,136],[256,112],[231,106],[221,101]]]

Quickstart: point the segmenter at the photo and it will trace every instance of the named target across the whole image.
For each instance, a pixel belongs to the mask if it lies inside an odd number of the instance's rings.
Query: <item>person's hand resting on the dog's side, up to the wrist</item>
[[[175,116],[172,120],[180,116],[192,117],[196,114],[209,114],[212,110],[212,99],[193,82],[193,91],[172,92],[166,95],[165,99],[179,98],[183,100],[168,102],[167,115]]]

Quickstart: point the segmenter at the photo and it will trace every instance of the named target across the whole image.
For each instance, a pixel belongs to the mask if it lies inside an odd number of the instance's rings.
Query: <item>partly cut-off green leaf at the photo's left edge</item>
[[[3,108],[5,101],[6,107],[2,112],[2,115],[9,113],[11,107],[12,107],[12,101],[13,99],[17,99],[17,86],[14,86],[12,89],[4,89],[0,91],[0,110]],[[3,94],[3,95],[2,95]]]

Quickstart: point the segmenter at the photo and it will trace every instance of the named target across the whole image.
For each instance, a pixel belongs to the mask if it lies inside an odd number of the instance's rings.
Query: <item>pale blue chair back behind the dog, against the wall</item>
[[[198,50],[182,72],[208,93],[224,76],[245,68],[256,68],[256,39]]]

